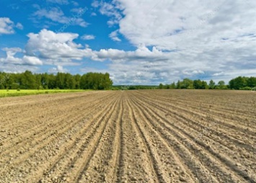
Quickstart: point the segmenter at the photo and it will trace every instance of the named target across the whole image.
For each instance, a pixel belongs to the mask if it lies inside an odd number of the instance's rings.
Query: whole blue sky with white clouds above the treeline
[[[254,0],[1,0],[0,71],[114,84],[256,76]]]

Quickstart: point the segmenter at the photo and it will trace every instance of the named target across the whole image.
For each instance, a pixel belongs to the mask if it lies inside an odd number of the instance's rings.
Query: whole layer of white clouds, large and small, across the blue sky
[[[102,70],[88,66],[81,71],[108,71],[115,84],[171,83],[186,77],[229,81],[239,75],[255,76],[256,22],[252,17],[256,17],[256,1],[115,0],[94,1],[92,7],[108,17],[111,31],[107,35],[112,43],[128,41],[135,49],[92,50],[77,40],[93,41],[97,37],[94,32],[79,35],[43,29],[27,35],[24,50],[4,48],[6,58],[0,58],[1,63],[33,68],[49,65],[53,66],[49,71],[56,72],[69,71],[66,66],[88,59],[100,61],[107,64]],[[58,7],[37,9],[34,16],[59,24],[70,21]],[[79,18],[74,24],[80,28],[88,25]],[[13,34],[14,27],[22,29],[22,24],[0,18],[0,35]]]

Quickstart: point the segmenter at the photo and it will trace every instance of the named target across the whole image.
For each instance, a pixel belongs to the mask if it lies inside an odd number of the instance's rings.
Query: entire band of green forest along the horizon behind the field
[[[109,73],[4,73],[0,72],[0,89],[241,89],[251,90],[256,86],[256,77],[239,76],[231,79],[229,84],[224,81],[209,83],[200,79],[183,79],[172,84],[159,86],[112,86]]]

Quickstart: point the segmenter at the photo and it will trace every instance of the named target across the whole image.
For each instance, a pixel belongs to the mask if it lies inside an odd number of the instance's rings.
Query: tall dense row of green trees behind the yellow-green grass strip
[[[109,73],[1,73],[0,89],[110,89]]]

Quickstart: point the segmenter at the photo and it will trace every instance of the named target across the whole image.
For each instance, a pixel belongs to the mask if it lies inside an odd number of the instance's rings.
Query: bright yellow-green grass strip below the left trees
[[[67,92],[77,92],[77,91],[89,91],[84,89],[0,89],[0,97],[17,97],[32,94],[56,94],[56,93],[67,93]]]

